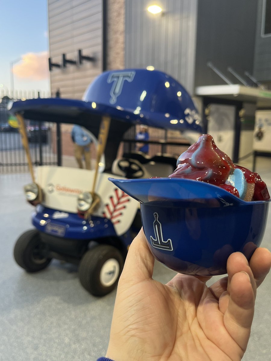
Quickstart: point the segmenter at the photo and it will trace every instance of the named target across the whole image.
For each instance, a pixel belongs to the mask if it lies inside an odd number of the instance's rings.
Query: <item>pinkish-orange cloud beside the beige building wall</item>
[[[49,78],[48,52],[27,53],[13,66],[13,73],[21,79],[44,80]]]

